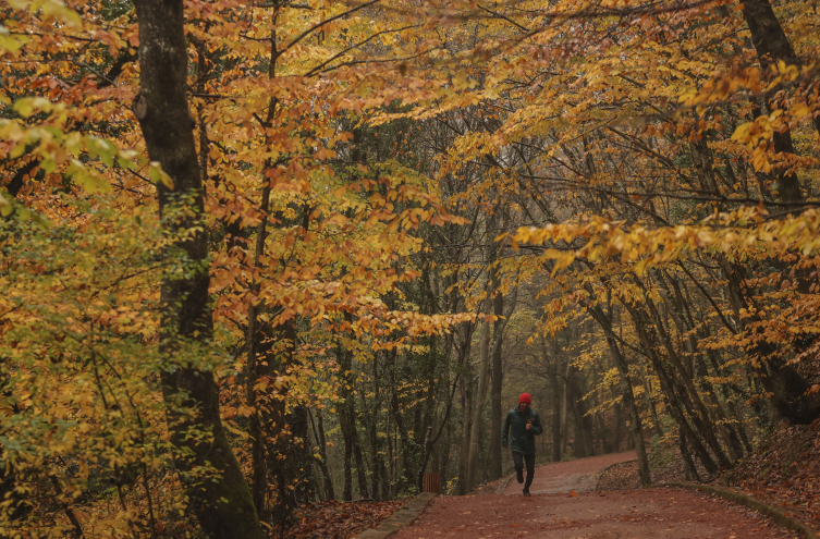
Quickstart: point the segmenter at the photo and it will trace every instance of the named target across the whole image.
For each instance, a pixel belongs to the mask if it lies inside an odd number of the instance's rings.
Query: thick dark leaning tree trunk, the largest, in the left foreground
[[[139,120],[151,161],[161,163],[173,181],[159,193],[160,216],[169,237],[182,231],[186,240],[164,253],[184,271],[162,278],[161,339],[168,357],[189,358],[189,342],[205,344],[212,334],[207,270],[208,244],[203,181],[194,142],[194,120],[186,100],[187,48],[182,0],[137,0],[139,22],[139,94],[133,110]],[[173,218],[171,218],[173,216]],[[179,257],[176,260],[173,258]],[[187,262],[183,262],[186,260]],[[182,277],[176,277],[182,275]],[[196,348],[196,346],[194,346]],[[196,362],[169,365],[162,372],[162,393],[169,404],[174,462],[183,478],[191,507],[210,538],[261,538],[250,489],[228,442],[219,415],[219,389],[209,367]],[[180,409],[186,408],[192,415]],[[204,438],[200,436],[206,433]],[[193,483],[187,473],[205,466],[212,478]]]

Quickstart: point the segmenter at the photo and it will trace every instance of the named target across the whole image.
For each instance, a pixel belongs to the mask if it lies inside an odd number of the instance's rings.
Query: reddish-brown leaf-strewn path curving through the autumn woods
[[[620,453],[536,468],[522,497],[513,479],[502,495],[439,497],[395,539],[768,539],[786,532],[723,500],[688,490],[591,492],[598,473],[629,461]]]

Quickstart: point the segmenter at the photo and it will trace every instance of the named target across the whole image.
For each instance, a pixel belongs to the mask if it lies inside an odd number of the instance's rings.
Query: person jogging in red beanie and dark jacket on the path
[[[524,483],[524,495],[529,495],[529,486],[536,474],[536,440],[535,437],[543,432],[538,412],[530,408],[533,400],[529,393],[522,393],[518,406],[506,413],[504,426],[501,429],[501,445],[506,448],[512,439],[513,462],[518,482],[524,482],[524,463],[527,465],[527,482]],[[511,432],[512,430],[512,432]]]

